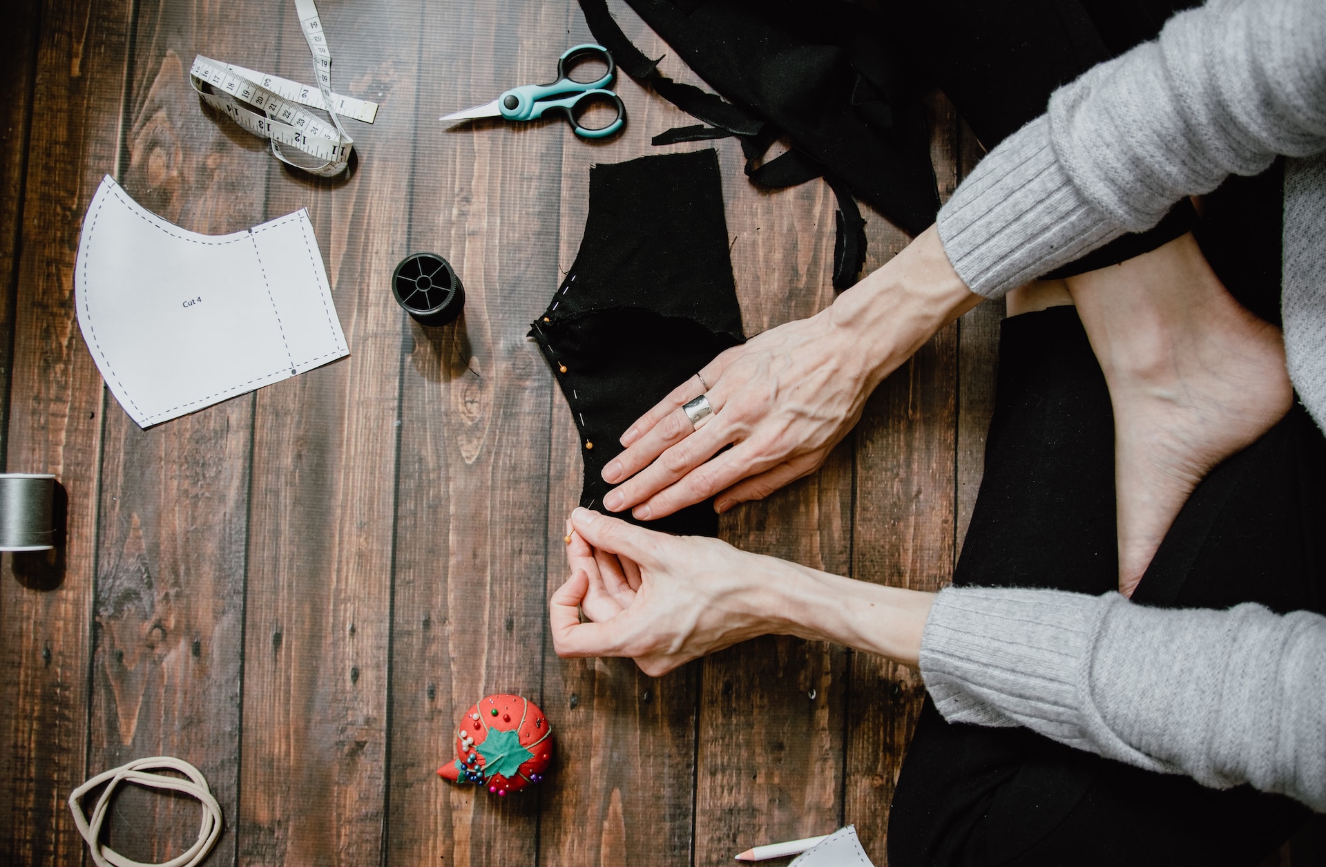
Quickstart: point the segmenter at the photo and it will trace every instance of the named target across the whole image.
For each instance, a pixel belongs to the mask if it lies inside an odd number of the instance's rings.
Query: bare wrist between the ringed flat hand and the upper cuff
[[[932,225],[819,316],[869,394],[981,301],[953,270]]]

